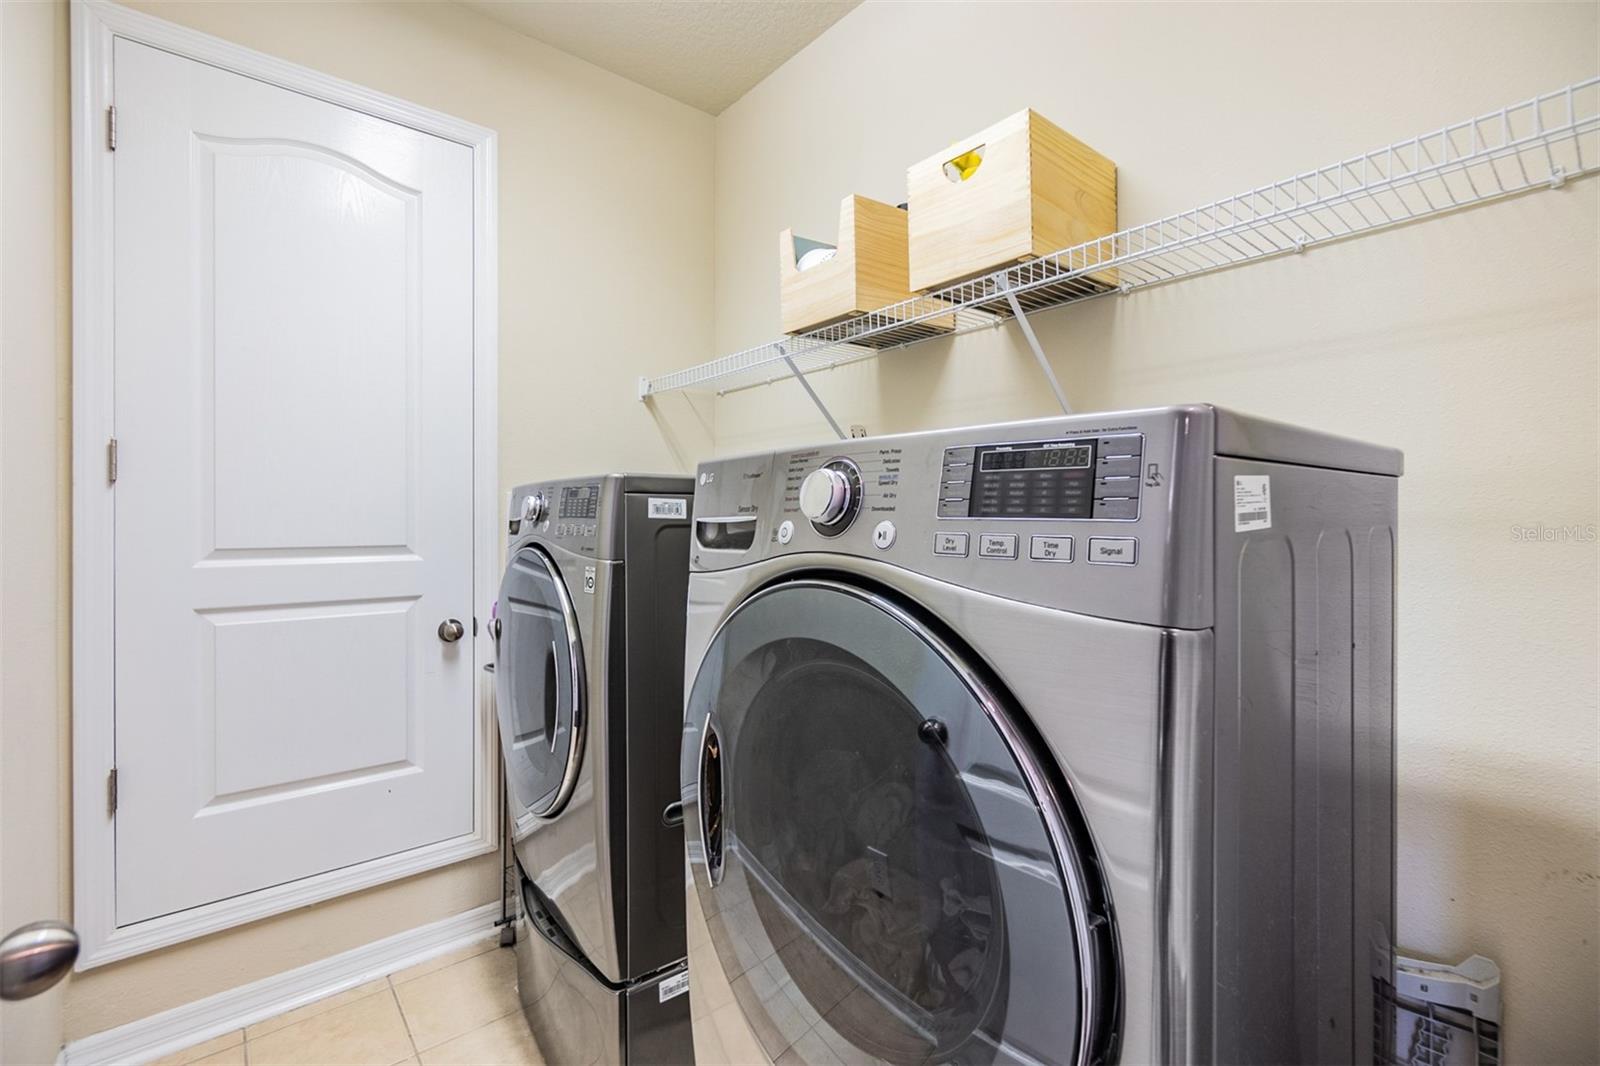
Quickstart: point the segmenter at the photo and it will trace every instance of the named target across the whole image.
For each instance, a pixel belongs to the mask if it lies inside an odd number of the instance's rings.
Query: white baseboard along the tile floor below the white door
[[[86,1036],[64,1047],[58,1061],[62,1066],[146,1063],[493,936],[498,919],[499,904],[485,903],[331,959]]]

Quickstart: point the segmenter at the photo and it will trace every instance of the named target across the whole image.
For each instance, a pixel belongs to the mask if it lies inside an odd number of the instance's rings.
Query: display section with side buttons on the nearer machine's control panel
[[[938,517],[1134,522],[1142,458],[1144,434],[946,448]]]

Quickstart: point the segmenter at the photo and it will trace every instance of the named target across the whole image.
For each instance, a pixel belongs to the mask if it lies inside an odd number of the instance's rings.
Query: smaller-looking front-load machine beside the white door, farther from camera
[[[683,996],[688,477],[510,496],[491,623],[523,1012],[550,1063],[693,1063]]]

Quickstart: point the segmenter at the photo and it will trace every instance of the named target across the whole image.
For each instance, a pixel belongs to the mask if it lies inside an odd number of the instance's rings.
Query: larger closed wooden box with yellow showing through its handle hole
[[[1117,230],[1117,165],[1032,110],[906,171],[914,290]]]

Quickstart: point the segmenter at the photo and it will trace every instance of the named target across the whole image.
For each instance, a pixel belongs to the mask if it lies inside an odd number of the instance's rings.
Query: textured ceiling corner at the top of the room
[[[712,115],[861,0],[459,0]]]

